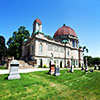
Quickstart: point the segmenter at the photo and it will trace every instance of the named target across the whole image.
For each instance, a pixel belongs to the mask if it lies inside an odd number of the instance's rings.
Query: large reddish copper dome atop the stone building
[[[65,24],[55,32],[53,37],[62,35],[71,35],[77,37],[75,31],[69,26],[65,26]]]

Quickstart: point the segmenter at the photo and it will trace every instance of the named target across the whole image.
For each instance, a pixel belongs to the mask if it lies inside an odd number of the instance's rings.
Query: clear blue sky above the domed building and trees
[[[0,35],[6,42],[20,26],[31,35],[36,18],[46,35],[63,24],[71,27],[88,55],[100,57],[100,0],[0,0]]]

